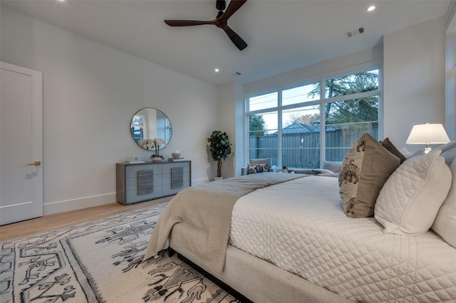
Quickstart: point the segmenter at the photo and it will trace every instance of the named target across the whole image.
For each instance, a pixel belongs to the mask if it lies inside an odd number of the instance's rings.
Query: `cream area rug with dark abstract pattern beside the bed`
[[[0,243],[0,302],[239,302],[175,255],[142,262],[165,205]]]

